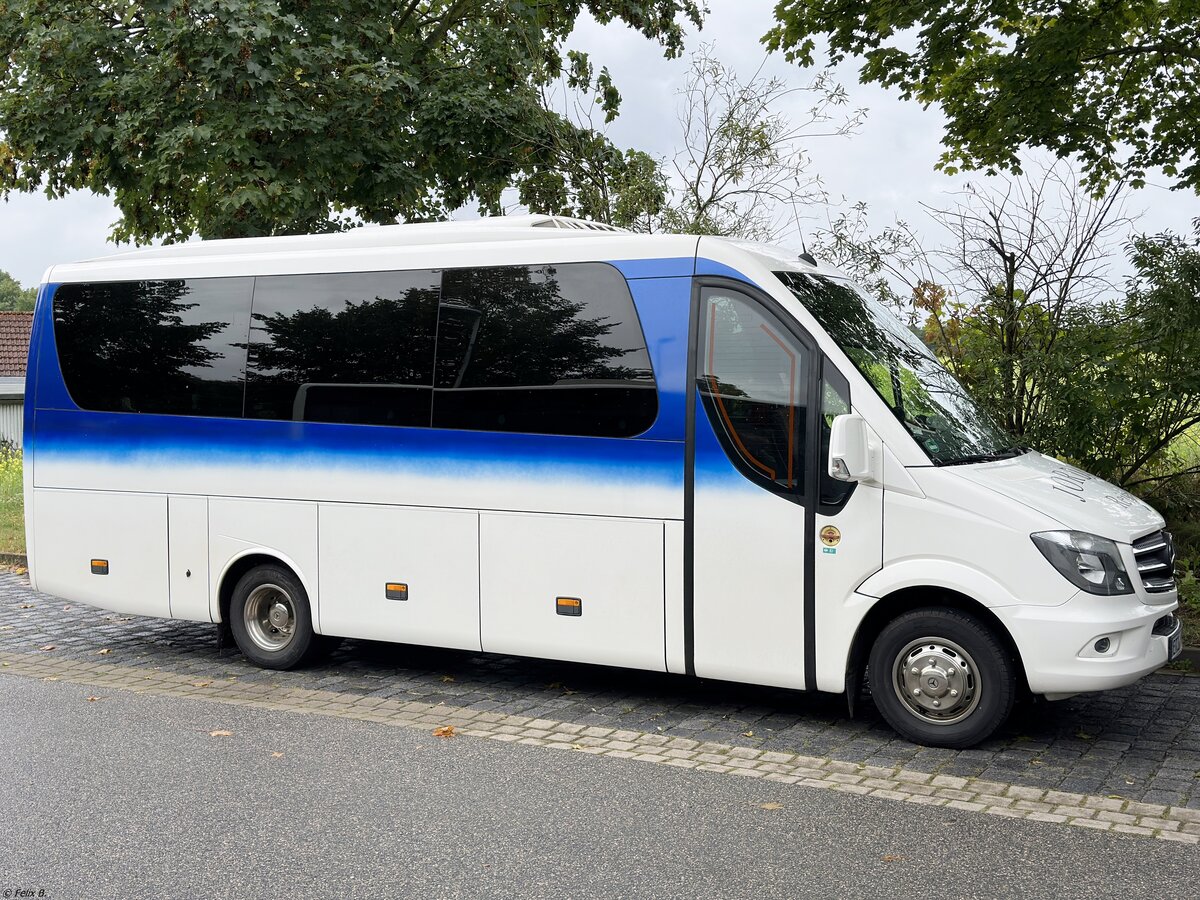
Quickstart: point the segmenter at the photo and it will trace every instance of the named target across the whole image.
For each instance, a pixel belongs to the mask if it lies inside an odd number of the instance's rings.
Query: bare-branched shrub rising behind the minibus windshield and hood
[[[968,190],[932,215],[950,238],[937,252],[940,282],[956,293],[917,298],[926,340],[1018,440],[1073,448],[1076,436],[1045,414],[1073,367],[1056,343],[1076,312],[1115,290],[1109,259],[1129,226],[1122,192],[1092,198],[1060,164]]]

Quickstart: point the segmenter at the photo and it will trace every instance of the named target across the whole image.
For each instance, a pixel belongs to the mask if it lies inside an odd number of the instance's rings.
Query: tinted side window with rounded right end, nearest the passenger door
[[[442,428],[630,437],[658,414],[629,287],[600,263],[446,271],[436,389]]]

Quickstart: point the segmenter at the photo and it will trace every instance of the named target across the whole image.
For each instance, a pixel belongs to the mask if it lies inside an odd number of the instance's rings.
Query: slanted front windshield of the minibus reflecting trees
[[[840,278],[775,272],[838,342],[935,466],[1025,452],[997,427],[932,352],[874,298]]]

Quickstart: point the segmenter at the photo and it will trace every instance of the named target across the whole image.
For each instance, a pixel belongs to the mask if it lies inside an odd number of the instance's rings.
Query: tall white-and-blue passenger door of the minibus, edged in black
[[[701,677],[805,688],[820,354],[732,282],[697,294],[685,652]]]

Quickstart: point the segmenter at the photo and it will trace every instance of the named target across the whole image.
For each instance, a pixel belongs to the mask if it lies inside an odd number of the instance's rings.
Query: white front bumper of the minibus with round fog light
[[[1132,684],[1160,668],[1181,644],[1178,602],[1147,606],[1136,595],[1079,593],[1062,606],[994,608],[1025,665],[1030,690],[1051,700]],[[1097,642],[1108,647],[1097,649]]]

